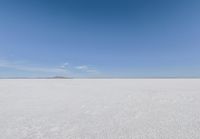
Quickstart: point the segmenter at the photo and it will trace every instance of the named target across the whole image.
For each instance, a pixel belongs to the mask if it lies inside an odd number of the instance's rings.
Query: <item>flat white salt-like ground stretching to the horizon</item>
[[[0,80],[0,139],[200,139],[200,80]]]

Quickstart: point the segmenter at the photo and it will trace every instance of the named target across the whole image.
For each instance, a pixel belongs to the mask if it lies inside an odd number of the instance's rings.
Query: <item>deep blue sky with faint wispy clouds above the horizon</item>
[[[0,0],[0,77],[200,77],[198,0]]]

